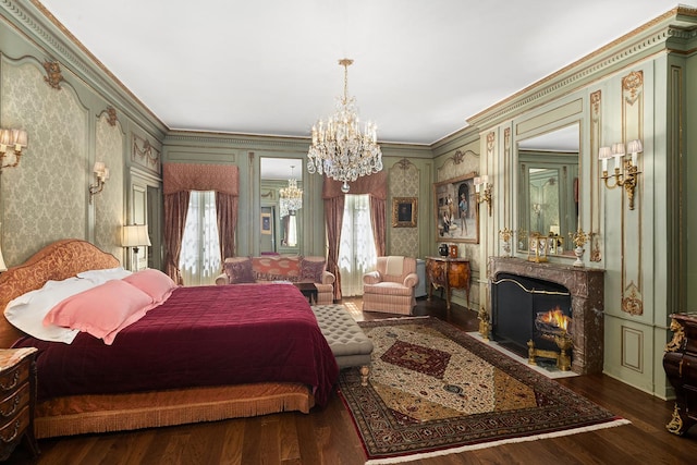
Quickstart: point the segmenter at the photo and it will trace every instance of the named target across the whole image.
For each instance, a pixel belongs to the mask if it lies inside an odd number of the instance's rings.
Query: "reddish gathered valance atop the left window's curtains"
[[[164,195],[182,191],[216,191],[240,195],[240,169],[234,164],[164,163]]]

